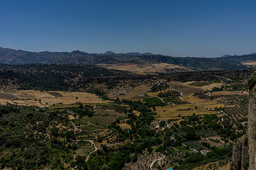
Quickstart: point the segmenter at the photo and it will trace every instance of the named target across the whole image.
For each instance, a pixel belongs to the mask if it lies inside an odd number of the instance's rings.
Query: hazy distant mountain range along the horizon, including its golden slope
[[[73,52],[26,52],[0,48],[0,63],[11,65],[25,63],[60,63],[94,65],[108,69],[132,71],[137,74],[173,73],[180,71],[236,70],[251,67],[256,54],[242,56],[224,55],[216,58],[171,57],[152,53],[89,54],[79,50]]]

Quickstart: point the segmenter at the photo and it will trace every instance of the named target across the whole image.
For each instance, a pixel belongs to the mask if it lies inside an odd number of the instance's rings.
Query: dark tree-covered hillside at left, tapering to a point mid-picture
[[[89,65],[0,64],[0,87],[20,90],[68,91],[85,87],[89,76],[126,75],[129,72]]]

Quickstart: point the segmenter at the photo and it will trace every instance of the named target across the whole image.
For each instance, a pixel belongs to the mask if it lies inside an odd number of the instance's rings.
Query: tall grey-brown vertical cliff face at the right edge
[[[248,141],[249,141],[249,170],[256,168],[256,98],[255,87],[250,90],[250,103],[248,113]]]

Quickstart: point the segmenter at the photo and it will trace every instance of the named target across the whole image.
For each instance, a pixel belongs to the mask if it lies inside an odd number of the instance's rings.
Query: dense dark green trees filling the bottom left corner
[[[0,113],[1,169],[43,169],[47,165],[58,169],[73,159],[73,148],[66,147],[71,143],[60,141],[54,126],[68,121],[63,113],[11,104],[1,105]],[[47,137],[50,126],[53,129]]]

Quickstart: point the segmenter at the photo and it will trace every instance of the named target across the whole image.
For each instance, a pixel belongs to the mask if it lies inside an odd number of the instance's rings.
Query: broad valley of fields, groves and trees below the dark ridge
[[[33,74],[28,74],[31,66]],[[71,76],[56,65],[46,68],[59,71],[43,75],[36,71],[40,65],[24,67],[8,72],[15,76],[2,74],[2,167],[30,169],[34,162],[38,168],[99,169],[108,164],[118,169],[192,169],[216,160],[213,166],[230,167],[232,144],[246,134],[249,92],[244,75],[251,70],[82,78],[80,71]],[[41,85],[56,73],[63,90]],[[36,74],[38,83],[31,82],[26,90],[24,80],[28,83]],[[17,131],[12,122],[21,128]],[[44,139],[40,150],[48,154],[35,158],[39,139]],[[28,163],[5,159],[9,148],[17,153],[12,160]]]

